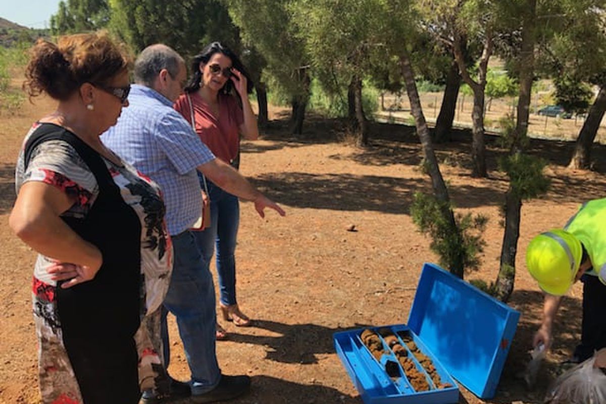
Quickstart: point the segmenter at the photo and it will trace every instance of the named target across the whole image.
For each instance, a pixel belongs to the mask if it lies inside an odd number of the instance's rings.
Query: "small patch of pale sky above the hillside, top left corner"
[[[0,17],[30,28],[48,28],[60,0],[0,0]]]

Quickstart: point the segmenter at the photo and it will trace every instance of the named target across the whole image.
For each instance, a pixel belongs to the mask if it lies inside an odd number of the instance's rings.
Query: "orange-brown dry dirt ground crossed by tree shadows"
[[[30,309],[35,254],[8,229],[15,199],[13,172],[21,139],[53,103],[25,104],[18,114],[0,117],[0,403],[38,403],[36,339]],[[410,128],[372,124],[371,145],[355,148],[339,141],[339,122],[311,117],[302,137],[292,137],[280,111],[273,110],[262,139],[242,145],[241,171],[287,216],[260,219],[243,203],[237,249],[239,302],[255,319],[251,328],[223,322],[229,340],[218,342],[226,374],[248,374],[252,389],[240,404],[361,403],[335,354],[332,334],[362,325],[405,322],[422,264],[435,261],[429,240],[408,214],[415,191],[430,191],[418,169],[421,151]],[[282,111],[284,113],[284,111]],[[468,279],[493,280],[503,229],[499,206],[507,180],[496,171],[502,153],[487,137],[489,179],[469,176],[470,134],[439,145],[442,173],[450,182],[458,211],[489,217],[487,246],[478,271]],[[565,299],[556,339],[536,391],[516,379],[528,359],[532,333],[541,316],[542,294],[524,270],[525,246],[539,231],[562,225],[586,199],[604,196],[604,147],[594,150],[596,171],[565,169],[570,144],[533,141],[531,149],[550,162],[550,193],[522,208],[518,275],[510,304],[522,316],[496,397],[488,403],[539,403],[556,363],[579,338],[581,288]],[[347,231],[351,224],[356,232]],[[214,270],[213,270],[214,273]],[[170,319],[170,373],[188,376],[174,319]],[[461,403],[481,403],[461,389]]]

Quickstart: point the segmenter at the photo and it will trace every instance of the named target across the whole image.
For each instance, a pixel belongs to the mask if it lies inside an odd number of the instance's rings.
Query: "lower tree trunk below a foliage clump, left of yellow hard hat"
[[[520,235],[520,211],[522,200],[513,192],[511,186],[505,196],[505,233],[501,248],[501,266],[495,284],[495,297],[507,303],[513,283],[516,279],[516,254]]]

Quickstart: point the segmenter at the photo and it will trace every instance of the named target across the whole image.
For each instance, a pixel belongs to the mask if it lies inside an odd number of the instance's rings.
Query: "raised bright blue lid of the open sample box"
[[[482,399],[494,396],[520,313],[425,263],[408,326],[448,373]]]

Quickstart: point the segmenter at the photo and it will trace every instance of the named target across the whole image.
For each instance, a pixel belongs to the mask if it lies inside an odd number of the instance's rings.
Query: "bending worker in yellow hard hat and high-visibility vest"
[[[551,331],[562,296],[574,282],[583,282],[581,343],[569,362],[580,363],[606,347],[606,198],[581,206],[564,229],[534,237],[526,251],[531,276],[545,292],[543,321],[533,346],[551,346]],[[601,353],[606,360],[606,350]]]

